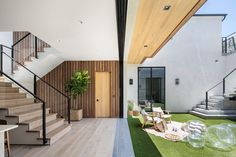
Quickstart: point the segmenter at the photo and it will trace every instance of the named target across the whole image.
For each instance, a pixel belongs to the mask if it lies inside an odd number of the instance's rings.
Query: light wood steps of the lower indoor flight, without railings
[[[42,134],[42,103],[28,98],[19,87],[0,78],[0,118],[9,124],[19,125],[10,131],[11,144],[41,145]],[[46,144],[53,144],[68,131],[71,125],[66,124],[63,118],[57,118],[56,113],[46,109]]]

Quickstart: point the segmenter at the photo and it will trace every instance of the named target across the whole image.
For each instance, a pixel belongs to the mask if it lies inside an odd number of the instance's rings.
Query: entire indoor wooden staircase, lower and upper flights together
[[[62,60],[54,57],[52,52],[38,54],[50,46],[29,32],[14,34],[15,44],[11,48],[0,45],[1,58],[5,59],[3,64],[0,64],[0,72],[5,76],[0,77],[0,118],[5,119],[8,124],[18,125],[18,128],[10,131],[11,144],[51,145],[71,129],[70,98],[36,73],[41,67],[52,70]],[[51,61],[50,64],[45,63],[48,60]],[[10,72],[4,70],[4,66],[9,66],[4,61],[10,61]],[[41,76],[47,73],[42,70],[40,72]],[[54,104],[55,102],[42,100],[40,95],[37,95],[39,81],[48,87],[47,90],[51,93],[62,95],[67,104]],[[50,111],[50,105],[67,107],[68,112],[64,115],[60,111],[53,113]],[[65,122],[63,117],[68,117],[68,122]]]

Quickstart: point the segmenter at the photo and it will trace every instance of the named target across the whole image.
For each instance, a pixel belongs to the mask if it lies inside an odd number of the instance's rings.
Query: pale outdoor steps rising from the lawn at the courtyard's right
[[[229,94],[210,96],[208,109],[204,100],[190,113],[202,118],[236,118],[236,88]]]

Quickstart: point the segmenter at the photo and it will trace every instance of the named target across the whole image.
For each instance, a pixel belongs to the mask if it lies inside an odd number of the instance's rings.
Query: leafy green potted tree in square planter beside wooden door
[[[90,83],[90,76],[88,71],[77,71],[75,72],[71,79],[66,83],[65,88],[68,92],[68,95],[76,99],[79,95],[84,93],[88,84]],[[72,108],[70,112],[71,120],[81,120],[83,117],[83,110],[78,108]]]

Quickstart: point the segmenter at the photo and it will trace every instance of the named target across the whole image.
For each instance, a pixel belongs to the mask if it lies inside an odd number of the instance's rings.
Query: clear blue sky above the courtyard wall
[[[222,36],[236,32],[236,0],[207,0],[197,14],[228,14],[222,23]]]

